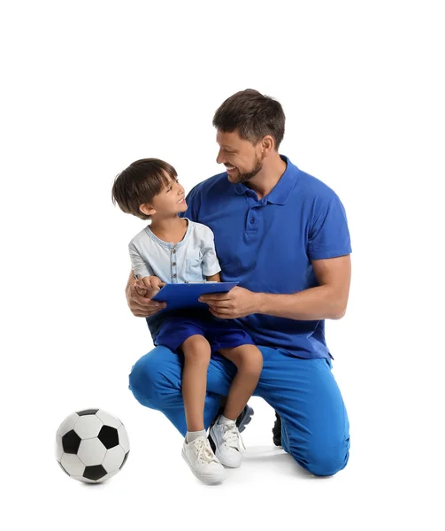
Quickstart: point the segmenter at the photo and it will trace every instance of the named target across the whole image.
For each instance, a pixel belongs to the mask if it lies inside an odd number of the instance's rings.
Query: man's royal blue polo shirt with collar
[[[311,260],[351,252],[348,222],[339,197],[287,157],[286,171],[258,200],[227,173],[200,182],[181,215],[211,227],[222,281],[251,291],[291,294],[318,286]],[[328,358],[324,320],[295,320],[255,313],[234,319],[258,346],[299,358]]]

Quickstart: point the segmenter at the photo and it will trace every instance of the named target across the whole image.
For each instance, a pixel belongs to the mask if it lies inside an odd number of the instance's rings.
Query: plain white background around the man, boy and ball
[[[440,4],[2,4],[2,528],[443,529]],[[143,222],[111,184],[145,157],[187,189],[219,173],[211,118],[247,88],[280,101],[280,152],[348,213],[349,309],[326,328],[351,450],[332,478],[303,473],[254,398],[242,468],[209,488],[127,389],[151,348],[124,296]],[[58,425],[89,407],[118,415],[131,444],[93,488],[53,453]]]

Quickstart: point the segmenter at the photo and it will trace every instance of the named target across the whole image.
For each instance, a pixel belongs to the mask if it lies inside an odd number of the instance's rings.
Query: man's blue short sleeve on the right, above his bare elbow
[[[351,253],[346,212],[338,196],[320,201],[309,231],[308,256],[311,260],[335,258]]]

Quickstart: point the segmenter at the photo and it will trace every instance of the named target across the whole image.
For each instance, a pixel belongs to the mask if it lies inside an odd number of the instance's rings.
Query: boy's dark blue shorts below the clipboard
[[[254,345],[249,334],[244,332],[234,321],[210,317],[187,318],[171,317],[156,336],[155,345],[164,345],[173,352],[178,352],[180,345],[191,335],[203,335],[211,345],[211,354],[219,349],[230,349],[240,345]]]

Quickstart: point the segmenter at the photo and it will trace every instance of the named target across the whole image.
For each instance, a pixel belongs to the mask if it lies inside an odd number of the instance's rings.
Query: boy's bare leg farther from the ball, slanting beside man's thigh
[[[263,356],[255,345],[250,344],[232,349],[219,349],[219,353],[237,368],[223,413],[227,419],[235,420],[257,387],[263,367]]]

